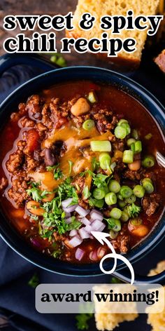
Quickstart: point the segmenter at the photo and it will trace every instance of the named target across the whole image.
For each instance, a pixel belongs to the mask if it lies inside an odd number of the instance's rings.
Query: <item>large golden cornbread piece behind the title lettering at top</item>
[[[154,15],[157,11],[159,0],[78,0],[78,6],[73,19],[73,25],[75,29],[71,32],[67,32],[67,36],[73,36],[74,38],[99,38],[103,30],[99,27],[100,19],[103,15],[124,15],[127,16],[127,11],[130,9],[134,11],[134,15]],[[94,27],[90,30],[80,29],[78,23],[83,13],[91,13],[96,18]],[[137,67],[141,61],[141,53],[147,38],[147,31],[138,30],[122,30],[121,34],[112,34],[111,30],[106,31],[108,33],[108,39],[110,38],[134,38],[137,41],[137,50],[134,53],[126,53],[122,50],[117,58],[107,58],[106,53],[99,56],[105,57],[110,62],[118,62],[120,65],[129,65],[131,67]]]

